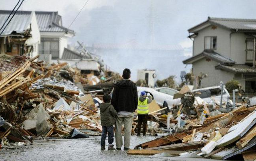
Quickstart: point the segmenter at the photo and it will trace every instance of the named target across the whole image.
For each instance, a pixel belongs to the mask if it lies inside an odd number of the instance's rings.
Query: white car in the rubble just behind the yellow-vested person
[[[179,91],[168,88],[168,87],[160,87],[160,88],[148,88],[148,87],[137,87],[138,90],[138,96],[141,95],[142,91],[145,91],[146,93],[149,93],[152,95],[153,99],[156,101],[156,103],[160,106],[163,105],[164,101],[168,103],[169,108],[172,108],[172,105],[178,105],[180,104],[180,98],[179,99],[173,99],[173,95],[175,93],[178,93]]]

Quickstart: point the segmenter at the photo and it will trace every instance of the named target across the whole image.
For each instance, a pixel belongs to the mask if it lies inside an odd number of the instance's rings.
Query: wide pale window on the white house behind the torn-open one
[[[39,54],[51,54],[52,58],[59,58],[59,38],[41,38]]]

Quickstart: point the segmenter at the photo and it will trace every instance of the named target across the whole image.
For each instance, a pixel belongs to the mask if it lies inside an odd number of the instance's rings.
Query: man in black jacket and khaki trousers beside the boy
[[[134,112],[138,105],[137,86],[131,78],[129,69],[123,70],[123,80],[118,81],[114,85],[111,104],[117,111],[115,118],[115,144],[116,149],[121,150],[123,146],[123,138],[121,134],[122,126],[124,126],[124,150],[130,149],[131,129],[133,125]]]

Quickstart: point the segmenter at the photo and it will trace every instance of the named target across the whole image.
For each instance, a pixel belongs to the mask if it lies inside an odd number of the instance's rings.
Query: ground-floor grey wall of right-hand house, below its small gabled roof
[[[201,81],[201,87],[219,85],[220,81],[226,83],[227,81],[232,80],[235,77],[235,75],[231,72],[215,70],[215,66],[217,64],[217,62],[213,60],[207,61],[205,58],[193,63],[192,72],[195,76],[198,76],[200,72],[208,75],[207,78],[204,78]]]

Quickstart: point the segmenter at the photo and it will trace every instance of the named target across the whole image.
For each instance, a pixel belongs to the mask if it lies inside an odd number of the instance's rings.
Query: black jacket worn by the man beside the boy
[[[120,80],[114,85],[111,104],[117,111],[133,113],[138,106],[137,86],[131,80]]]

